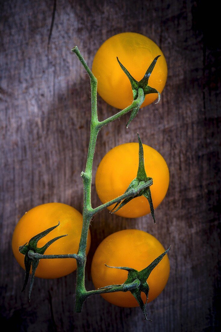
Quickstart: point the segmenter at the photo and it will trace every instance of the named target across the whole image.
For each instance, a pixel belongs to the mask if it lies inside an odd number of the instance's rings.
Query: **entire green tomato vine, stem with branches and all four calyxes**
[[[162,253],[159,257],[157,257],[148,267],[141,271],[137,271],[135,269],[132,269],[130,267],[116,267],[118,269],[125,269],[128,271],[128,279],[122,284],[122,285],[109,285],[106,287],[102,287],[97,290],[90,290],[87,291],[85,288],[85,264],[86,264],[86,245],[87,245],[87,236],[89,231],[89,225],[91,222],[92,217],[105,209],[106,207],[110,207],[113,204],[116,204],[115,208],[116,210],[129,202],[131,199],[138,197],[138,196],[145,196],[148,200],[148,203],[150,205],[151,214],[154,218],[154,210],[152,205],[152,198],[151,198],[151,191],[150,186],[153,184],[152,178],[148,177],[145,173],[144,169],[144,160],[143,160],[143,148],[141,140],[138,136],[139,141],[139,167],[138,167],[138,173],[137,177],[132,181],[126,192],[111,200],[110,202],[104,203],[98,207],[92,208],[91,206],[91,182],[92,182],[92,166],[93,166],[93,158],[94,158],[94,151],[95,151],[95,144],[97,140],[98,132],[101,130],[103,126],[106,124],[109,124],[113,122],[114,120],[120,118],[121,116],[127,114],[128,112],[131,112],[130,119],[127,123],[128,125],[131,123],[131,121],[137,116],[140,106],[142,105],[145,95],[149,93],[156,93],[158,92],[154,88],[151,88],[148,85],[148,78],[151,74],[151,72],[154,69],[154,66],[157,62],[157,59],[159,56],[155,57],[153,59],[152,63],[150,64],[149,68],[147,69],[144,77],[139,82],[136,81],[130,73],[127,71],[127,69],[121,64],[121,62],[118,60],[121,68],[125,72],[125,74],[128,76],[132,89],[133,89],[133,96],[134,100],[130,106],[127,108],[119,111],[118,113],[114,114],[108,119],[105,119],[103,121],[98,120],[97,115],[97,79],[89,69],[88,65],[86,64],[85,60],[83,59],[83,56],[81,55],[79,49],[77,46],[75,46],[72,51],[78,56],[79,60],[81,61],[83,67],[85,68],[86,72],[89,75],[90,78],[90,86],[91,86],[91,123],[90,123],[90,140],[89,140],[89,146],[88,146],[88,153],[87,153],[87,161],[86,161],[86,167],[85,171],[82,171],[81,177],[83,179],[83,227],[82,227],[82,233],[81,233],[81,239],[79,243],[79,250],[77,254],[72,255],[44,255],[44,251],[46,248],[56,241],[58,238],[54,238],[51,241],[49,241],[44,247],[38,248],[37,242],[39,239],[44,237],[46,234],[48,234],[51,230],[53,230],[55,227],[58,227],[59,225],[56,225],[54,227],[51,227],[47,230],[45,230],[42,233],[37,234],[36,236],[32,237],[29,240],[29,243],[20,247],[19,251],[25,255],[25,267],[26,267],[26,278],[23,290],[25,289],[27,283],[28,283],[28,276],[30,268],[32,267],[32,277],[31,277],[31,284],[29,289],[29,299],[30,299],[30,292],[31,288],[33,286],[34,281],[34,273],[36,271],[37,265],[39,263],[40,259],[51,259],[51,258],[74,258],[77,261],[77,283],[76,283],[76,303],[75,303],[75,311],[81,312],[83,303],[86,300],[86,298],[90,295],[94,294],[101,294],[101,293],[108,293],[108,292],[117,292],[117,291],[131,291],[134,297],[137,299],[139,306],[142,309],[142,312],[145,316],[145,319],[147,319],[146,316],[146,302],[148,298],[148,291],[149,286],[146,282],[149,274],[151,271],[156,267],[156,265],[161,261],[161,259],[164,257],[164,255],[167,254],[168,248],[164,253]],[[160,93],[158,92],[158,96],[160,99]],[[158,102],[159,102],[158,99]],[[118,206],[118,207],[117,207]],[[65,236],[65,235],[63,235]],[[143,303],[140,293],[144,292],[146,294],[146,302]]]

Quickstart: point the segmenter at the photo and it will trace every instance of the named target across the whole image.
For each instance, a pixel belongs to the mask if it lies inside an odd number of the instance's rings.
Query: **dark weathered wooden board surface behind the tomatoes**
[[[217,331],[221,56],[216,10],[185,0],[24,0],[0,6],[2,323],[28,332]],[[74,313],[76,273],[36,278],[29,304],[27,292],[21,293],[24,271],[11,250],[13,229],[28,209],[63,202],[82,211],[90,91],[70,49],[78,45],[91,66],[101,43],[125,31],[144,34],[162,48],[168,80],[160,104],[141,110],[130,129],[125,128],[128,116],[103,128],[93,174],[109,149],[136,141],[139,131],[167,161],[170,186],[155,212],[156,225],[149,215],[125,219],[104,211],[95,218],[86,287],[93,287],[90,262],[104,237],[125,228],[150,232],[165,247],[172,244],[168,284],[147,308],[152,322],[143,321],[139,308],[115,307],[100,296]],[[117,111],[100,98],[98,107],[100,119]],[[99,204],[94,179],[92,201]]]

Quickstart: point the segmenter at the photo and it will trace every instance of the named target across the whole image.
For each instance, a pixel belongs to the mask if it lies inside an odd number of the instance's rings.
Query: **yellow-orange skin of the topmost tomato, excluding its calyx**
[[[150,63],[161,55],[150,75],[148,84],[162,92],[167,79],[167,63],[161,49],[146,36],[125,32],[107,39],[94,56],[92,72],[97,78],[98,94],[110,105],[124,109],[133,101],[129,79],[120,68],[117,58],[136,80],[141,80]],[[141,107],[158,97],[148,94]]]

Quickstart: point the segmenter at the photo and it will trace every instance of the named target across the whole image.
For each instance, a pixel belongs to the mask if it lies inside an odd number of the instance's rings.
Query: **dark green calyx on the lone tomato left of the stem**
[[[32,268],[32,273],[31,273],[31,282],[30,282],[30,287],[29,287],[29,292],[28,292],[28,300],[30,302],[30,295],[31,295],[31,290],[33,287],[33,283],[34,283],[34,275],[35,275],[35,271],[37,269],[37,266],[39,264],[40,259],[36,259],[35,255],[43,255],[45,250],[55,241],[57,241],[58,239],[60,239],[61,237],[67,236],[66,235],[61,235],[61,236],[57,236],[54,239],[48,241],[43,247],[38,248],[37,247],[37,243],[38,241],[44,237],[45,235],[47,235],[48,233],[50,233],[53,229],[55,229],[56,227],[58,227],[60,225],[60,222],[58,222],[58,224],[56,226],[50,227],[48,229],[46,229],[45,231],[33,236],[28,244],[25,244],[23,246],[19,247],[19,252],[23,255],[25,255],[25,281],[24,281],[24,285],[22,288],[22,291],[25,290],[27,284],[28,284],[28,278],[29,278],[29,272],[30,269]],[[41,258],[41,257],[40,257]],[[56,258],[56,257],[54,257]]]

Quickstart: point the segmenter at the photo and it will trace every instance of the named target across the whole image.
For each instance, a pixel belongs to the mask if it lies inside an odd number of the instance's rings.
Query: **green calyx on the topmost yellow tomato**
[[[132,87],[132,91],[133,91],[133,98],[134,100],[138,99],[138,89],[141,88],[143,90],[144,93],[144,98],[146,95],[150,94],[150,93],[157,93],[158,94],[158,101],[156,102],[156,104],[159,103],[160,101],[160,93],[159,91],[157,91],[156,89],[152,88],[151,86],[148,85],[148,80],[149,77],[153,71],[153,68],[155,67],[155,64],[157,62],[157,59],[160,57],[160,55],[157,55],[154,60],[151,62],[150,66],[148,67],[147,71],[145,72],[145,75],[143,76],[143,78],[140,81],[137,81],[130,73],[129,71],[123,66],[123,64],[120,62],[120,60],[117,57],[117,61],[121,67],[121,69],[125,72],[125,74],[127,75],[127,77],[130,80],[131,83],[131,87]],[[134,108],[131,111],[131,116],[130,119],[128,121],[128,123],[126,124],[126,127],[128,128],[129,124],[131,123],[131,121],[136,117],[136,115],[138,114],[139,108],[141,106],[141,104],[143,103],[144,99],[141,101],[140,105],[136,108]]]

